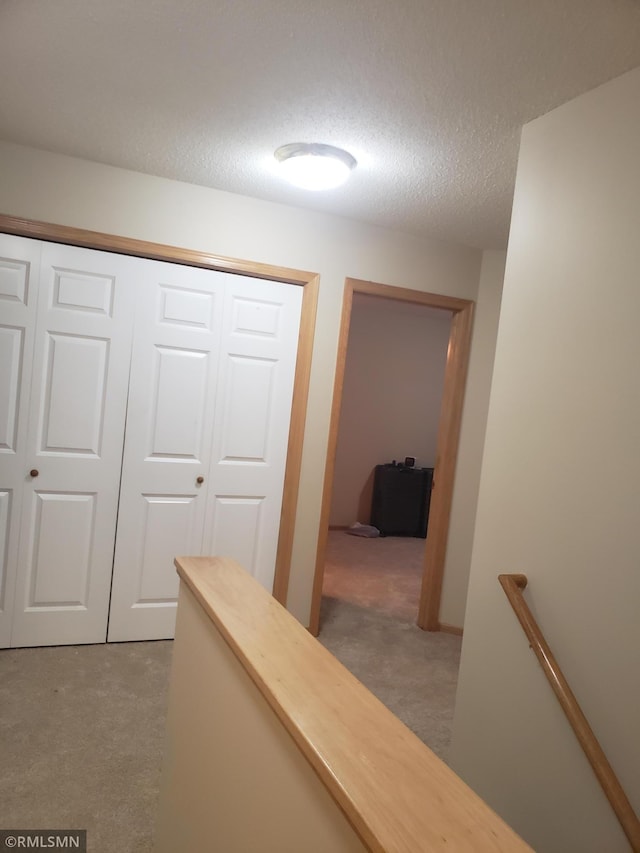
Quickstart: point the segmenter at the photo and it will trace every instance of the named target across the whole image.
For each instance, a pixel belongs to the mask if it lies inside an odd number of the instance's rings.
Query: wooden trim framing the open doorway
[[[434,488],[431,496],[429,512],[429,532],[427,535],[424,573],[420,592],[418,625],[428,631],[440,630],[440,599],[444,579],[444,564],[449,534],[451,516],[451,501],[455,476],[460,424],[464,390],[471,349],[471,329],[474,303],[469,299],[459,299],[453,296],[443,296],[437,293],[425,293],[419,290],[392,287],[377,284],[372,281],[360,281],[347,278],[345,280],[342,302],[342,318],[338,338],[338,356],[333,387],[333,403],[329,424],[329,440],[327,445],[327,462],[325,467],[322,493],[322,509],[320,515],[320,533],[316,553],[316,568],[313,579],[311,597],[311,613],[309,630],[317,636],[320,630],[320,604],[322,600],[322,582],[326,559],[327,541],[329,534],[329,516],[333,493],[333,478],[335,472],[336,449],[338,445],[338,430],[340,425],[340,410],[342,405],[342,390],[344,372],[351,325],[351,312],[354,293],[364,293],[381,299],[395,299],[400,302],[412,302],[426,305],[452,313],[449,349],[445,368],[444,389],[438,426],[438,442],[436,449],[436,464],[434,471]]]

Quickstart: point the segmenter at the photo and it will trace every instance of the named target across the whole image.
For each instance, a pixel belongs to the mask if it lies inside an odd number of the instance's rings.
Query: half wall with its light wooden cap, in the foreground
[[[237,563],[179,557],[176,566],[159,851],[201,853],[211,837],[226,839],[216,848],[225,851],[532,853]],[[345,834],[332,830],[333,840],[343,841],[307,838],[313,815],[316,827],[339,819]],[[254,830],[271,841],[252,846]]]

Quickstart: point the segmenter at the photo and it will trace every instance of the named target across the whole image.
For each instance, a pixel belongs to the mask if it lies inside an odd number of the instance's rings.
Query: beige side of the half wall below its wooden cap
[[[366,853],[247,670],[182,582],[155,853]]]

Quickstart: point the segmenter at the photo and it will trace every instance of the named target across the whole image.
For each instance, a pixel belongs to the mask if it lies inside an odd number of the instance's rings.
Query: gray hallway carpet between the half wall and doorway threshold
[[[462,638],[323,597],[320,642],[443,760]]]

